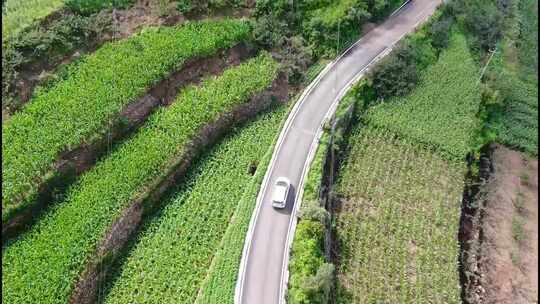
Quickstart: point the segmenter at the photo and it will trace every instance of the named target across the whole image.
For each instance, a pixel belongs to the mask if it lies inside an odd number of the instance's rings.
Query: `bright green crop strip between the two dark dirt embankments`
[[[63,202],[4,246],[3,302],[65,303],[97,244],[130,202],[165,177],[204,125],[268,88],[278,67],[270,55],[260,55],[188,87],[153,114],[134,137],[84,174]]]

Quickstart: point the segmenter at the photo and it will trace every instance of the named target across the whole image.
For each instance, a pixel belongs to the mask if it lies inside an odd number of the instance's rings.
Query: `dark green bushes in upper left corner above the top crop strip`
[[[103,35],[111,23],[108,14],[65,14],[47,26],[26,27],[7,37],[2,45],[2,108],[13,111],[20,107],[16,82],[22,67],[43,61],[58,63],[74,49]]]

